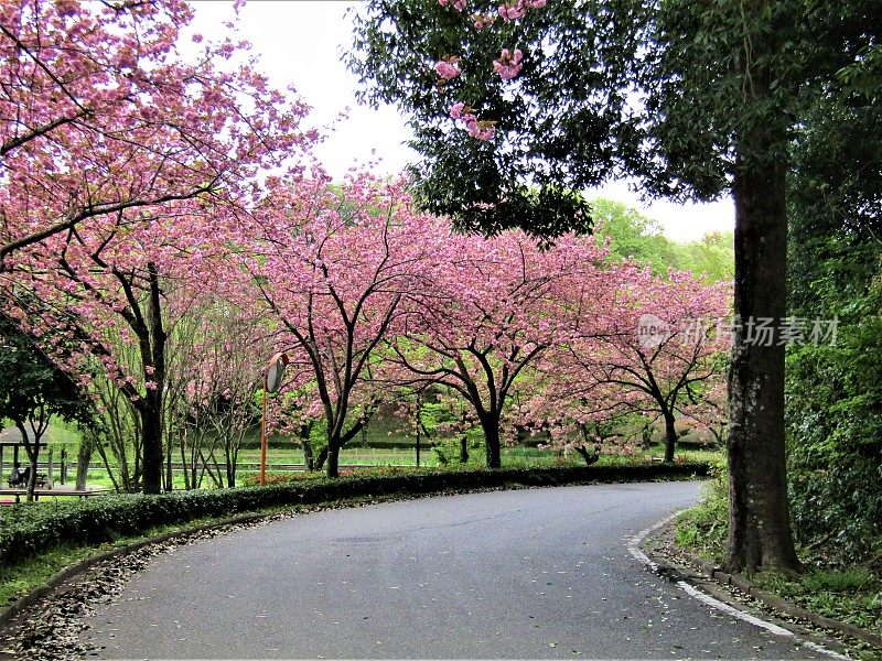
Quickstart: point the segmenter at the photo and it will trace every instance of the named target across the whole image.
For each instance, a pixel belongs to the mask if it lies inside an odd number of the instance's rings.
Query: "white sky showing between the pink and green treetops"
[[[225,34],[223,23],[234,18],[232,2],[202,0],[193,4],[195,32],[208,40]],[[313,108],[313,123],[334,124],[332,134],[316,149],[332,176],[342,176],[355,163],[377,159],[380,162],[374,166],[375,172],[394,174],[419,154],[405,147],[409,131],[394,107],[374,110],[355,100],[357,80],[340,61],[352,41],[352,25],[344,17],[352,4],[332,0],[250,0],[239,13],[238,35],[251,42],[261,69],[275,86],[294,85]],[[347,118],[337,120],[347,109]],[[596,195],[643,209],[659,221],[666,236],[679,241],[699,239],[734,225],[730,199],[707,205],[646,204],[628,191],[626,182],[606,185]]]

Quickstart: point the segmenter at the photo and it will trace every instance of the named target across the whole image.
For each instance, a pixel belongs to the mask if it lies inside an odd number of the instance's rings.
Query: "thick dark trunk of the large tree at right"
[[[784,143],[760,128],[740,145],[734,177],[736,330],[729,373],[729,551],[733,572],[797,571],[787,507],[784,443],[784,347],[759,337],[756,324],[785,316],[786,162],[762,162]]]

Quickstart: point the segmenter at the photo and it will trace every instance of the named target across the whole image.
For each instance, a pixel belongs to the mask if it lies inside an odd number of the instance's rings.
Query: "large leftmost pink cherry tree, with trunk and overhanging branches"
[[[131,402],[148,492],[161,488],[169,327],[192,300],[170,292],[212,289],[212,261],[266,195],[258,175],[302,172],[312,140],[299,99],[233,65],[241,44],[178,55],[191,18],[176,0],[0,9],[0,300],[37,337],[72,313],[80,350],[58,358]]]

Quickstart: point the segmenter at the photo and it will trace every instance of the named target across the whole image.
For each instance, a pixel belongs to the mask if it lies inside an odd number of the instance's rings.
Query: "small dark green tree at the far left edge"
[[[90,407],[76,382],[0,312],[0,419],[21,432],[31,464],[28,500],[33,499],[40,442],[53,416],[85,423]]]

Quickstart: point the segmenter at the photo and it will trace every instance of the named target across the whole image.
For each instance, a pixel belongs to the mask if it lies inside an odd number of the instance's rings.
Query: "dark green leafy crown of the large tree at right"
[[[365,97],[412,118],[431,210],[469,229],[553,234],[590,225],[559,192],[621,171],[660,196],[709,199],[730,188],[736,152],[740,166],[786,159],[787,133],[827,82],[878,73],[880,13],[872,0],[581,0],[475,30],[469,11],[437,0],[372,0],[347,64]],[[524,68],[508,84],[493,59],[514,44]],[[432,65],[448,55],[462,75],[439,85]],[[493,140],[450,118],[458,100],[496,122]],[[747,148],[757,127],[775,139]]]

